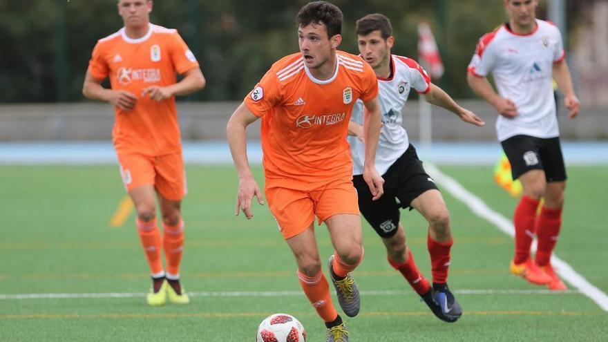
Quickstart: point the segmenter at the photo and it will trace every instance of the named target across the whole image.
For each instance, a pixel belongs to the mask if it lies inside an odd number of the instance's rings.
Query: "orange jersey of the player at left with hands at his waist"
[[[181,151],[175,97],[157,102],[142,96],[148,86],[169,86],[176,73],[198,68],[196,58],[177,30],[150,24],[146,35],[131,39],[124,28],[97,41],[88,64],[96,79],[110,77],[114,90],[137,96],[131,111],[115,108],[114,146],[119,151],[163,155]]]

